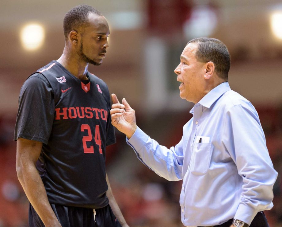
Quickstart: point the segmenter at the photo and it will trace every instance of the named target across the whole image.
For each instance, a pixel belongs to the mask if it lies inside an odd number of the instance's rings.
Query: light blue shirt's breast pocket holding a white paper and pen
[[[194,148],[194,147],[193,147]],[[207,173],[211,162],[211,143],[196,143],[193,149],[190,169],[195,175]]]

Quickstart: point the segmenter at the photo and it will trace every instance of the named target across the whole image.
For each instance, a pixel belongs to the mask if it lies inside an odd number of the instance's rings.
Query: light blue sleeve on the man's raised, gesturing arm
[[[127,143],[133,148],[138,159],[159,176],[169,181],[183,179],[183,147],[182,140],[168,149],[151,139],[139,127]]]

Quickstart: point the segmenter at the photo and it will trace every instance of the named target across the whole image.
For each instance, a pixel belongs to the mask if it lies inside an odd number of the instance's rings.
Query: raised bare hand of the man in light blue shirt
[[[122,104],[120,104],[115,94],[112,94],[112,103],[112,109],[110,111],[112,125],[130,139],[137,128],[135,111],[129,106],[125,98],[122,99]]]

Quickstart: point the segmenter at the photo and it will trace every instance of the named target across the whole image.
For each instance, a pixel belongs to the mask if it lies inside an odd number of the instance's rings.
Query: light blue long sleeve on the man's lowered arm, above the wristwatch
[[[236,219],[250,225],[259,211],[273,207],[277,178],[258,115],[249,103],[234,105],[226,114],[223,143],[242,177],[242,193]]]

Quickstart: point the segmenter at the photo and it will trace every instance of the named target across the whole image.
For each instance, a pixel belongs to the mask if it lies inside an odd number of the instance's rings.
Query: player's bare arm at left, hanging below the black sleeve
[[[44,225],[61,226],[48,202],[44,184],[36,169],[36,161],[41,149],[41,142],[23,138],[17,139],[17,176],[25,194]]]

